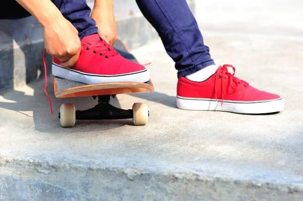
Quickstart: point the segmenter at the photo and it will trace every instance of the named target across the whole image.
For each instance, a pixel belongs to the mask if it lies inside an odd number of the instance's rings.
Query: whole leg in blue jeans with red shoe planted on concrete
[[[137,0],[137,4],[176,62],[178,108],[255,114],[284,108],[280,96],[230,74],[231,65],[215,65],[185,0]]]

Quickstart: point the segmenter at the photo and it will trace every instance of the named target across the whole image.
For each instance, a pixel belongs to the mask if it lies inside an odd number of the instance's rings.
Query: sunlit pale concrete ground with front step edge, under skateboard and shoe
[[[147,68],[155,92],[115,101],[122,108],[147,103],[145,126],[129,119],[62,128],[62,103],[81,110],[95,101],[56,99],[51,77],[54,115],[43,80],[0,96],[0,200],[302,200],[302,3],[262,2],[214,1],[198,7],[204,12],[197,19],[216,63],[233,64],[236,77],[281,95],[284,111],[177,109],[174,62],[158,41],[133,51],[141,63],[152,62]],[[210,12],[215,9],[221,12]]]

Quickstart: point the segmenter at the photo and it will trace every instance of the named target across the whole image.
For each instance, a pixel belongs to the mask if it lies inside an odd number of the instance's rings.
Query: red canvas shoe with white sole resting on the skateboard
[[[143,65],[122,57],[111,45],[100,39],[97,34],[81,40],[81,52],[72,68],[64,68],[54,58],[54,76],[85,84],[108,82],[147,82],[149,72]]]

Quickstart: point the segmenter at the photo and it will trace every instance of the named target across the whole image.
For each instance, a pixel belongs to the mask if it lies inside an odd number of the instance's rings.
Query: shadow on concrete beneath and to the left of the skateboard
[[[97,100],[92,97],[79,97],[79,98],[56,98],[54,95],[54,84],[52,77],[48,77],[47,93],[52,101],[53,111],[51,114],[49,109],[48,100],[43,92],[44,83],[42,81],[34,82],[26,87],[23,91],[10,91],[3,95],[4,101],[0,101],[0,107],[17,111],[20,115],[25,115],[33,118],[35,129],[41,132],[86,132],[96,130],[107,130],[120,127],[123,125],[132,125],[132,119],[121,120],[76,120],[73,129],[62,128],[58,112],[63,103],[73,103],[76,110],[84,110],[93,107],[97,104]],[[117,99],[112,99],[111,103],[120,107]],[[32,113],[32,114],[31,114]],[[12,114],[12,113],[10,113]],[[10,115],[9,114],[9,115]],[[4,114],[6,115],[6,114]],[[21,116],[12,114],[17,119],[23,119]],[[9,118],[9,116],[8,116]],[[16,119],[16,120],[17,120]],[[81,129],[80,129],[81,127]]]

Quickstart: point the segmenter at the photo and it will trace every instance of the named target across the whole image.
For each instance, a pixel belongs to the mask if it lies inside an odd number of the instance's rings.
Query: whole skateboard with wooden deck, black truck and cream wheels
[[[137,62],[122,40],[117,40],[113,47],[125,58]],[[145,125],[149,111],[145,103],[134,103],[132,109],[120,109],[110,104],[111,98],[117,94],[153,92],[154,85],[149,80],[146,83],[115,82],[99,84],[83,84],[54,76],[54,91],[57,98],[92,96],[98,99],[97,105],[87,110],[75,110],[71,103],[60,107],[59,118],[62,127],[73,127],[76,119],[133,119],[135,125]]]

